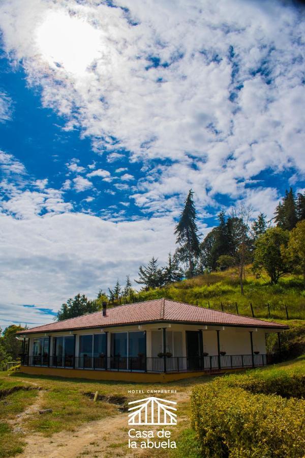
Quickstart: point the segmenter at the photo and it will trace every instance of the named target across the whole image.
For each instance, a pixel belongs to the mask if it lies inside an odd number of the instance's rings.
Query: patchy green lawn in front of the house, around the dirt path
[[[305,358],[300,357],[293,361],[284,362],[272,367],[258,369],[264,377],[268,379],[276,374],[276,371],[291,370],[305,373]],[[251,373],[251,371],[249,371]],[[273,373],[273,375],[272,375]],[[244,373],[238,373],[244,374]],[[232,376],[233,377],[233,376]],[[234,375],[234,377],[239,377]],[[0,390],[21,386],[24,389],[12,392],[0,400],[0,457],[14,456],[24,447],[25,438],[40,437],[41,441],[46,441],[49,447],[57,440],[57,446],[64,446],[60,443],[61,434],[67,437],[73,436],[73,441],[81,438],[80,431],[86,424],[93,424],[92,428],[99,431],[98,425],[113,422],[113,431],[110,426],[105,433],[97,433],[97,437],[92,437],[87,444],[82,444],[78,455],[90,456],[132,456],[129,455],[127,448],[128,424],[124,410],[126,403],[130,400],[139,399],[141,394],[131,394],[128,390],[143,389],[167,389],[177,390],[175,394],[160,394],[160,397],[174,399],[178,407],[178,424],[169,427],[172,432],[172,440],[176,440],[177,449],[174,450],[154,450],[144,452],[142,456],[177,456],[196,457],[200,456],[199,444],[194,431],[190,427],[190,394],[197,385],[209,383],[215,377],[203,376],[197,379],[187,379],[180,382],[172,382],[164,385],[151,386],[150,384],[131,384],[103,381],[89,381],[83,379],[63,379],[56,377],[32,376],[20,373],[0,373]],[[33,389],[28,390],[27,387]],[[38,389],[40,388],[40,389]],[[84,393],[99,392],[101,400],[96,403],[90,396]],[[1,392],[1,391],[0,391]],[[147,394],[143,395],[146,397]],[[38,403],[38,404],[37,404]],[[31,406],[36,406],[36,410],[31,411]],[[38,406],[38,407],[37,407]],[[52,409],[50,413],[39,414],[39,410]],[[18,415],[22,415],[22,421],[16,423]],[[24,414],[25,412],[25,414]],[[17,416],[17,417],[16,417]],[[15,420],[14,420],[15,419]],[[122,421],[119,422],[119,420]],[[99,422],[100,423],[97,423]],[[118,421],[116,423],[116,421]],[[117,426],[115,426],[117,424]],[[104,431],[104,430],[103,430]],[[108,431],[108,432],[107,432]],[[66,432],[66,433],[65,433]],[[44,439],[43,439],[44,438]],[[59,443],[58,443],[59,441]],[[106,450],[101,448],[101,443],[107,444]],[[136,453],[133,453],[136,456]],[[44,456],[42,454],[42,456]],[[45,455],[47,456],[47,455]]]

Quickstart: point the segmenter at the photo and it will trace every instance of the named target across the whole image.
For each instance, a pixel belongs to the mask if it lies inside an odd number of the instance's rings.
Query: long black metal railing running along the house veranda
[[[211,356],[48,356],[23,355],[21,364],[25,366],[45,366],[92,370],[127,370],[148,372],[191,372],[217,371],[221,369],[249,368],[275,364],[281,361],[279,354],[253,355],[211,355]]]

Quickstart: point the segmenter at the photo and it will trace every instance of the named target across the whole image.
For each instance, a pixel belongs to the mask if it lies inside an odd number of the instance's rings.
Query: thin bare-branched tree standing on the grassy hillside
[[[253,208],[240,203],[231,212],[233,222],[233,239],[236,246],[236,261],[238,262],[240,293],[243,295],[243,278],[246,278],[245,265],[250,249],[249,222]]]

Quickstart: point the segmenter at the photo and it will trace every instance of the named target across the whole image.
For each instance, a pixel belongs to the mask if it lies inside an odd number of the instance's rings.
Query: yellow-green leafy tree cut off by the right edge
[[[282,245],[281,253],[291,271],[303,275],[305,288],[305,220],[299,221],[290,232],[287,247]]]

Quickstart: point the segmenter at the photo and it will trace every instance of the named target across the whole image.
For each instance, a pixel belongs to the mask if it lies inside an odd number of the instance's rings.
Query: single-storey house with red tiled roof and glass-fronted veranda
[[[98,380],[164,382],[263,366],[274,322],[168,299],[120,305],[25,331],[21,370]]]

